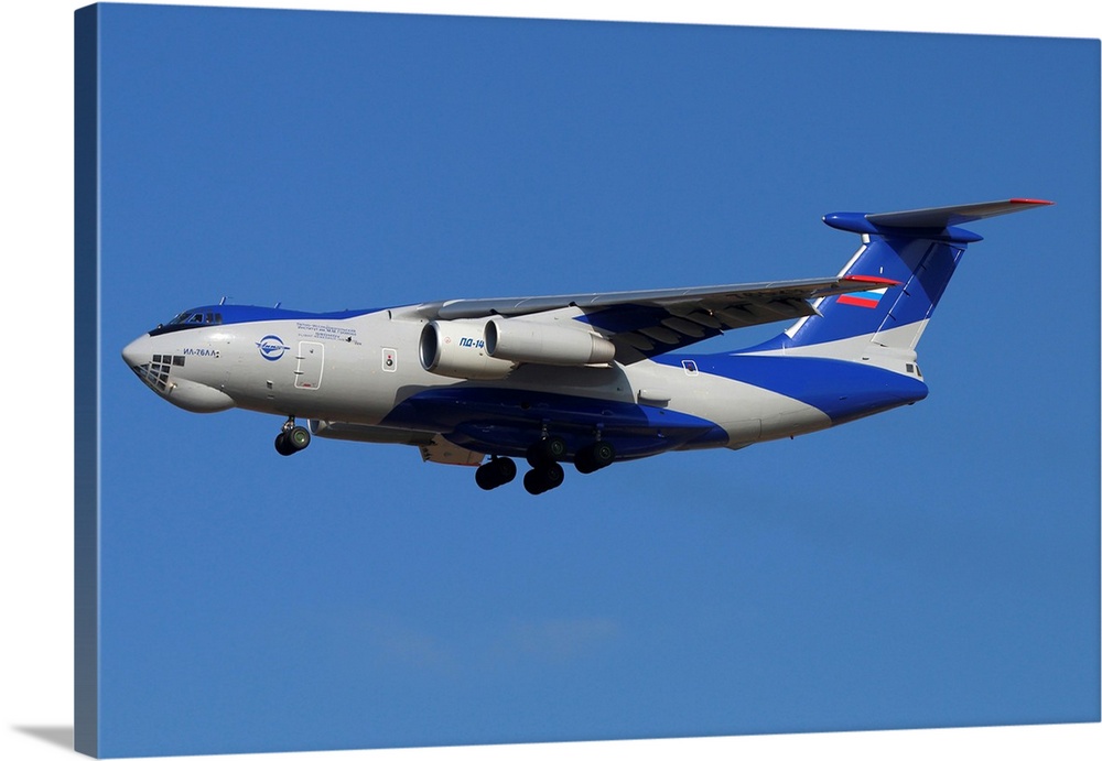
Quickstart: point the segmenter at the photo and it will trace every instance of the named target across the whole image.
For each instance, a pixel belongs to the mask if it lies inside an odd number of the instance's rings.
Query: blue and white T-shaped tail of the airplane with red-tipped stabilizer
[[[860,233],[864,243],[843,275],[886,278],[900,284],[822,298],[814,305],[817,315],[801,319],[771,346],[758,348],[839,359],[874,350],[914,360],[915,347],[964,249],[983,240],[957,225],[1050,204],[1014,198],[889,214],[829,214],[824,222]]]

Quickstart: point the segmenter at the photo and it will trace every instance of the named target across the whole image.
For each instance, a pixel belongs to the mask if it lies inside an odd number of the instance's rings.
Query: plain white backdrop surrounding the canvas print
[[[83,3],[11,0],[0,21],[3,161],[0,241],[4,285],[0,399],[8,486],[0,523],[0,758],[71,757],[73,732],[73,12]],[[530,15],[765,26],[1100,36],[1082,0],[984,3],[804,3],[608,0],[490,2],[208,2],[175,4]],[[890,7],[890,8],[889,8]],[[1084,156],[1098,161],[1098,156]],[[1098,319],[1096,307],[1087,319]],[[94,373],[95,368],[78,368]],[[79,382],[79,380],[77,380]],[[28,393],[30,391],[30,393]],[[1096,667],[1098,664],[1084,664]],[[1094,759],[1102,725],[947,729],[647,742],[247,754],[234,759],[550,759],[845,755],[856,759]],[[188,757],[223,758],[223,757]]]

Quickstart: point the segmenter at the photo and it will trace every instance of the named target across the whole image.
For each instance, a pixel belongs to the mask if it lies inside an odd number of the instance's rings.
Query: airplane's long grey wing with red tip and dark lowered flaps
[[[612,340],[616,359],[629,363],[726,330],[817,314],[812,300],[898,284],[884,278],[835,275],[653,291],[462,298],[423,304],[417,311],[428,319],[538,318],[574,307],[581,312],[575,319]]]

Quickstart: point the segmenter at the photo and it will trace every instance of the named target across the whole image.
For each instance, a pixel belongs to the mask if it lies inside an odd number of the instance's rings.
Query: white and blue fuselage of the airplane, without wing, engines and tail
[[[660,355],[627,366],[522,363],[497,380],[447,378],[419,361],[428,320],[413,309],[348,317],[280,312],[229,305],[188,311],[218,322],[151,330],[123,357],[150,388],[191,412],[240,407],[379,426],[379,441],[423,442],[440,434],[500,455],[522,453],[544,422],[560,435],[601,430],[617,439],[622,456],[644,456],[738,448],[926,395],[914,370],[779,355]],[[478,352],[478,340],[460,348]]]

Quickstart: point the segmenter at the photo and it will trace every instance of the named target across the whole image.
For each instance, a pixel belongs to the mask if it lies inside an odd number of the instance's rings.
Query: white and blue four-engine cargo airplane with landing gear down
[[[862,241],[833,278],[323,313],[224,298],[158,325],[122,358],[184,410],[285,417],[283,456],[313,437],[404,444],[425,461],[475,466],[486,490],[514,480],[522,458],[523,486],[540,494],[563,482],[564,463],[592,474],[739,449],[925,399],[916,346],[982,240],[959,226],[1051,203],[829,214]],[[737,351],[695,346],[792,319]]]

